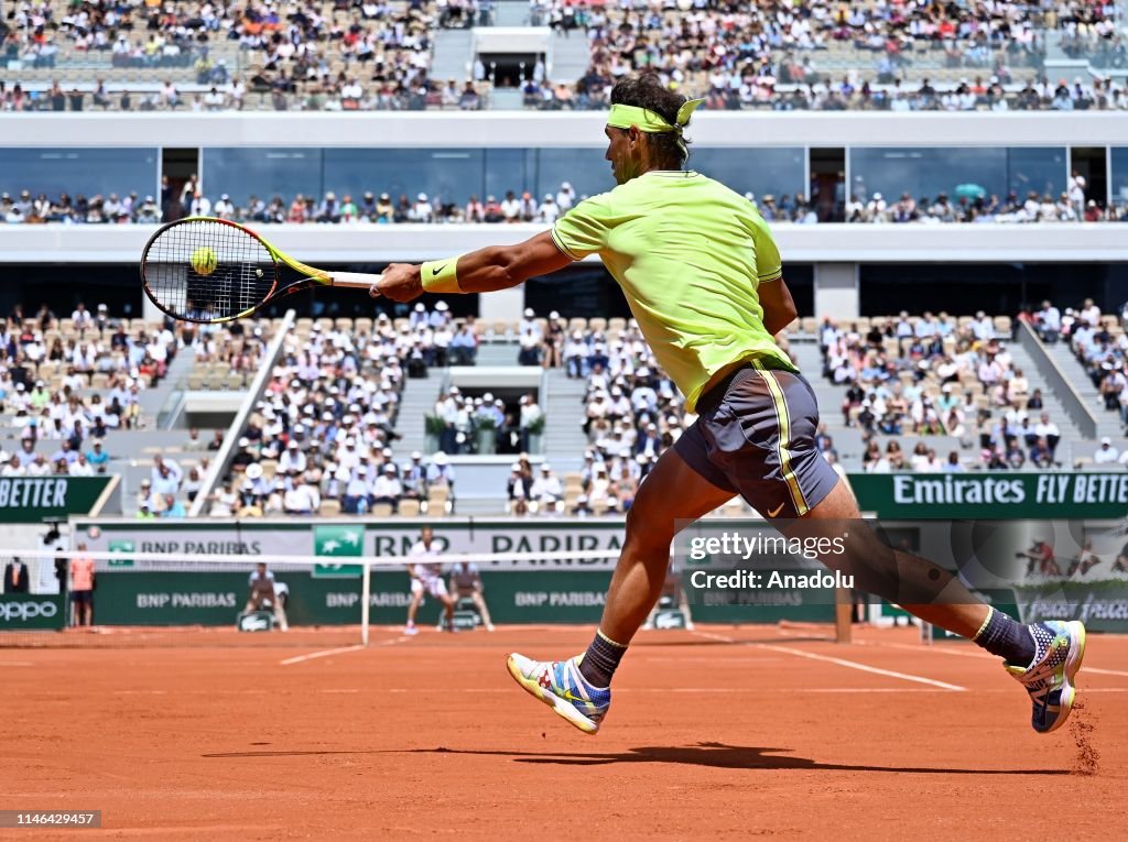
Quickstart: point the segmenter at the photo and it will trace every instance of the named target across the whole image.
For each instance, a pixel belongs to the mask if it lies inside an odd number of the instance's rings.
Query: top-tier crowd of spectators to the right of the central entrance
[[[1125,61],[1117,7],[1110,2],[973,7],[814,2],[782,8],[707,0],[681,10],[632,6],[576,10],[552,0],[534,3],[538,6],[544,6],[543,17],[550,25],[565,33],[583,28],[589,38],[591,63],[570,104],[574,107],[601,104],[617,79],[642,70],[653,70],[682,90],[707,96],[711,107],[1049,107],[1051,96],[1033,101],[1024,92],[1017,97],[1003,92],[1004,86],[1013,83],[1012,68],[1041,67],[1042,30],[1060,29],[1066,50],[1096,53],[1101,67],[1120,67]],[[846,67],[855,68],[843,86],[832,85],[828,73],[818,69],[826,55],[832,55],[838,67],[848,56]],[[871,90],[858,78],[867,67],[875,71],[882,90]],[[931,97],[906,95],[899,101],[896,83],[909,68],[968,69],[990,77],[992,82],[977,82],[970,105],[955,90],[950,92],[954,103],[935,92]],[[540,85],[543,79],[534,81]],[[1104,96],[1111,100],[1107,88]],[[541,103],[541,107],[554,107],[550,96]]]

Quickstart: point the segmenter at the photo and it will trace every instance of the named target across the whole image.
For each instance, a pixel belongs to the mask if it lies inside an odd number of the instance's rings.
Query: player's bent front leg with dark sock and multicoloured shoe
[[[680,452],[679,452],[680,451]],[[682,458],[682,453],[687,458]],[[662,593],[677,529],[731,499],[690,464],[702,463],[704,443],[695,427],[668,450],[638,488],[627,513],[627,531],[603,605],[603,617],[588,650],[569,661],[534,661],[513,653],[509,672],[527,692],[580,730],[594,734],[610,707],[610,680],[626,645]],[[687,461],[690,460],[690,461]],[[703,464],[703,469],[710,469]],[[717,482],[723,476],[710,471]],[[681,522],[681,523],[679,523]]]

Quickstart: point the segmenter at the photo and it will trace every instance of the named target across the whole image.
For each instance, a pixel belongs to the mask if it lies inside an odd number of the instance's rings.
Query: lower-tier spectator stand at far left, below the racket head
[[[117,473],[129,487],[127,513],[183,514],[208,445],[199,431],[162,429],[158,420],[193,336],[191,328],[112,316],[104,304],[79,304],[69,318],[17,307],[2,326],[0,475]],[[180,453],[179,463],[168,455]]]

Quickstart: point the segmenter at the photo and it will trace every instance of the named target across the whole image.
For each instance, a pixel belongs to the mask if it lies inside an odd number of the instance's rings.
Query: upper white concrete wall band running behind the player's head
[[[0,147],[602,147],[602,112],[6,114]],[[1101,113],[705,112],[702,147],[1101,147],[1126,142]]]

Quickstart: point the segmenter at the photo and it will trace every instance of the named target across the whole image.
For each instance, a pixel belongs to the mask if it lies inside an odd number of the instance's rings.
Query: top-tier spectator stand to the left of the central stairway
[[[0,30],[18,82],[0,109],[478,108],[488,86],[428,78],[441,6],[23,2]]]

